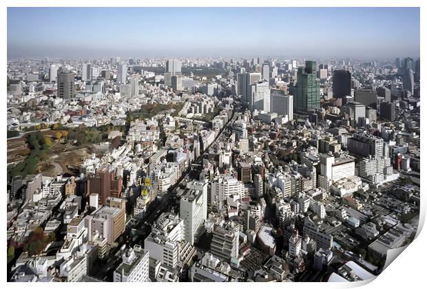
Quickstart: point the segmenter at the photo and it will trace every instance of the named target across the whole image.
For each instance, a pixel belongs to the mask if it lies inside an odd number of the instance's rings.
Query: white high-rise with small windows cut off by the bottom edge
[[[149,252],[135,245],[122,254],[121,264],[114,270],[114,282],[149,282]]]

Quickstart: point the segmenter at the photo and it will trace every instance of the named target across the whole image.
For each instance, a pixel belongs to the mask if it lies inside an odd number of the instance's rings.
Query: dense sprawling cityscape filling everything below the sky
[[[10,60],[7,103],[10,281],[358,281],[417,231],[419,59]]]

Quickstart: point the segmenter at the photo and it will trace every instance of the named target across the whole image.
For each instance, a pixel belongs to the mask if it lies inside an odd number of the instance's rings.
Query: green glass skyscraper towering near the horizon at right
[[[308,111],[320,107],[320,84],[316,78],[316,62],[306,61],[305,67],[298,67],[297,97],[295,110]]]

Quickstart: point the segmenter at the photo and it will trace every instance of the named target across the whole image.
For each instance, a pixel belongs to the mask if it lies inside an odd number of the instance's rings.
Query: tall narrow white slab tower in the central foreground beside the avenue
[[[207,217],[207,189],[187,189],[180,199],[180,218],[184,220],[184,238],[193,245]]]

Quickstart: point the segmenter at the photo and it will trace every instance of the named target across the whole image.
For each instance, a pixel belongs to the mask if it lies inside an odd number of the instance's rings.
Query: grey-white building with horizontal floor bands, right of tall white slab
[[[239,253],[239,226],[229,222],[227,226],[216,225],[213,229],[211,253],[220,259],[237,258]]]

